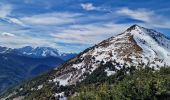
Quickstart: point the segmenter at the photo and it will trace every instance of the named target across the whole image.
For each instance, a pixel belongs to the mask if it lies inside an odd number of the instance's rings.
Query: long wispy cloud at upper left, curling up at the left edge
[[[9,23],[20,26],[70,24],[75,23],[76,17],[81,16],[80,13],[53,12],[15,18],[11,17],[12,10],[13,7],[10,4],[0,3],[0,18]]]

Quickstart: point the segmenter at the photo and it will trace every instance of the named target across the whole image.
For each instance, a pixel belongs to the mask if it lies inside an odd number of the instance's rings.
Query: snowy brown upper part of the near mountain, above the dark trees
[[[62,82],[75,84],[83,80],[85,74],[91,74],[101,64],[108,62],[115,66],[114,71],[140,65],[159,69],[170,65],[169,48],[170,40],[163,34],[133,25],[125,32],[86,49],[64,64],[55,81],[60,81],[60,85]],[[109,69],[106,71],[108,75],[109,72],[114,73]]]

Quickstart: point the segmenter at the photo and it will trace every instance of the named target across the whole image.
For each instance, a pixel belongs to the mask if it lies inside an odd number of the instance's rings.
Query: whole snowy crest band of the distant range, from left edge
[[[60,52],[56,48],[32,47],[32,46],[25,46],[22,48],[14,48],[14,49],[0,46],[0,54],[17,54],[20,56],[26,56],[31,58],[58,57],[61,58],[62,60],[68,60],[77,55],[76,53]]]

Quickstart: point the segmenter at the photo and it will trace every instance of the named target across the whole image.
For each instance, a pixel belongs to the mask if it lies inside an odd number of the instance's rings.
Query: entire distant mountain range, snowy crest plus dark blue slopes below
[[[9,87],[49,71],[76,54],[50,47],[11,49],[0,46],[0,94]]]

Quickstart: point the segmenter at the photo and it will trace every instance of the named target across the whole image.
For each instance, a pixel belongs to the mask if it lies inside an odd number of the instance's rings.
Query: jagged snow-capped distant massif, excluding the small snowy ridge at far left
[[[59,57],[63,60],[68,60],[70,58],[73,58],[76,56],[75,53],[62,53],[59,52],[57,49],[51,48],[51,47],[31,47],[31,46],[25,46],[22,48],[17,48],[15,51],[19,55],[25,55],[28,57],[34,57],[34,58],[42,58],[42,57]]]

